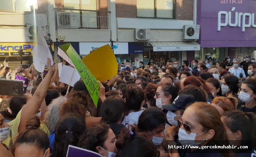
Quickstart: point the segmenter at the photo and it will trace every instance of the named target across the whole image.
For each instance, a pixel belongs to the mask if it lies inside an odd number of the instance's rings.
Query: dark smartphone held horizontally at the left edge
[[[0,80],[0,95],[23,96],[21,80]]]

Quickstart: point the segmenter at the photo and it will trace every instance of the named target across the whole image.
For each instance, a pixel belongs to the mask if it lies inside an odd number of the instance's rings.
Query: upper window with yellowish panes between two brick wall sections
[[[137,0],[137,17],[174,18],[174,0]]]

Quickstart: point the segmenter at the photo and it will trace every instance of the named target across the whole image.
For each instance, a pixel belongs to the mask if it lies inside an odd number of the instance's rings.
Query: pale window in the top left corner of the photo
[[[37,0],[1,0],[0,11],[4,11],[4,12],[31,11],[31,6],[37,9]]]

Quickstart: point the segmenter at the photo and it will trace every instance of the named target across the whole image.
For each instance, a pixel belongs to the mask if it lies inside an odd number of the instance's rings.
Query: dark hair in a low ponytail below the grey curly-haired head
[[[51,157],[66,157],[68,145],[77,146],[85,126],[85,118],[78,113],[67,113],[60,117],[55,129],[54,150]]]

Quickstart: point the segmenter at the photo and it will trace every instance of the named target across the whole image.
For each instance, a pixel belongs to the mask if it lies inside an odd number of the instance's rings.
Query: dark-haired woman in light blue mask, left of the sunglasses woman
[[[145,133],[148,140],[154,142],[158,150],[160,150],[161,157],[167,154],[164,152],[165,148],[162,145],[167,131],[165,125],[165,114],[156,107],[148,108],[141,113],[137,125],[138,132]]]

